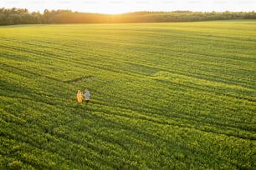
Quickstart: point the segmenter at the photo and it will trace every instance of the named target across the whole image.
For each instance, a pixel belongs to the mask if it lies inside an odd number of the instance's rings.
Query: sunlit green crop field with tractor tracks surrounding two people
[[[255,30],[1,27],[0,169],[256,168]]]

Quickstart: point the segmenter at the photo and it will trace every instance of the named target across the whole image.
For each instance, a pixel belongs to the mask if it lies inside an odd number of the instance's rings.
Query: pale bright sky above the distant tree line
[[[44,9],[69,9],[84,13],[131,13],[138,11],[251,12],[256,0],[0,0],[0,7],[27,8],[43,13]]]

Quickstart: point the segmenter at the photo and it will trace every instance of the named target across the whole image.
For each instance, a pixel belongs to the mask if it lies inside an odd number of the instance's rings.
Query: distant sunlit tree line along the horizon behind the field
[[[253,12],[136,12],[117,15],[78,13],[70,10],[48,10],[29,13],[24,8],[0,8],[0,25],[46,23],[167,23],[210,20],[256,19]]]

